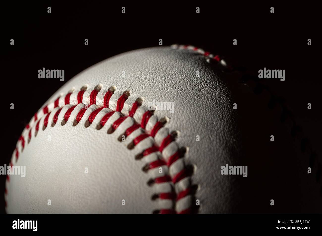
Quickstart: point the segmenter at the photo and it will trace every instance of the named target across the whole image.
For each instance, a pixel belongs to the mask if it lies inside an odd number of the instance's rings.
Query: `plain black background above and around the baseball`
[[[51,6],[52,13],[47,13]],[[121,7],[126,13],[121,13]],[[200,13],[195,13],[196,6]],[[275,13],[270,13],[274,6]],[[314,5],[210,4],[11,4],[2,6],[2,157],[9,163],[33,114],[70,78],[108,57],[138,48],[190,44],[257,72],[285,69],[271,80],[320,149],[321,76],[318,8]],[[14,46],[10,45],[14,39]],[[89,45],[84,45],[89,39]],[[234,46],[232,40],[237,39]],[[312,45],[307,45],[307,40]],[[65,81],[38,79],[43,67],[65,69]],[[307,112],[307,103],[314,109]],[[10,109],[14,103],[14,110]],[[318,152],[320,152],[318,150]],[[0,189],[4,189],[1,176]],[[0,205],[4,205],[3,195]],[[0,207],[4,213],[4,208]]]

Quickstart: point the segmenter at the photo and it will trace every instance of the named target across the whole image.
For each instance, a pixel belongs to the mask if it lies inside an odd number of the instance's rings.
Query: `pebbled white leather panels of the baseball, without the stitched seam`
[[[166,127],[180,131],[177,144],[189,147],[185,162],[195,166],[192,182],[199,186],[195,194],[201,204],[199,213],[231,212],[233,180],[220,174],[220,166],[234,163],[234,152],[239,150],[233,102],[204,56],[170,47],[123,53],[81,72],[44,104],[85,84],[91,90],[98,84],[106,90],[116,86],[111,103],[124,91],[131,92],[128,105],[138,97],[145,98],[142,106],[153,100],[175,102],[174,113],[156,111],[155,115],[159,119],[168,116]],[[81,123],[73,127],[75,112],[62,126],[62,113],[54,127],[50,126],[51,114],[45,130],[42,118],[37,136],[29,144],[26,141],[17,163],[13,158],[14,165],[26,166],[26,177],[10,176],[8,213],[152,213],[159,208],[151,200],[155,189],[147,185],[149,177],[141,170],[144,163],[135,160],[133,150],[118,142],[116,134],[107,134],[105,127],[96,130]],[[87,111],[82,121],[89,115]],[[196,135],[200,135],[199,142]],[[84,174],[85,167],[88,174]]]

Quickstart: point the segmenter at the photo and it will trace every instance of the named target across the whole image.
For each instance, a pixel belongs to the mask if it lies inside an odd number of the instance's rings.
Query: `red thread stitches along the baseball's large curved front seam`
[[[197,49],[196,49],[197,50]],[[98,94],[98,90],[93,90],[91,93],[90,93],[90,105],[92,104],[96,104],[96,97],[97,97],[97,94]],[[77,102],[78,103],[82,103],[82,97],[83,97],[83,94],[84,94],[84,91],[81,90],[78,92],[77,94]],[[103,100],[103,107],[100,107],[98,109],[95,109],[93,112],[91,112],[89,118],[88,118],[88,121],[89,123],[91,124],[95,117],[97,116],[97,114],[103,109],[103,108],[108,108],[109,107],[109,100],[112,96],[113,92],[112,91],[107,91],[106,94],[104,95],[104,100]],[[65,98],[64,98],[64,101],[65,101],[65,105],[67,104],[70,104],[70,96],[71,96],[71,93],[68,93]],[[54,108],[58,107],[59,106],[59,99],[60,98],[57,98],[55,101],[54,101]],[[128,99],[128,96],[126,93],[123,93],[119,98],[118,98],[118,101],[117,101],[117,106],[116,106],[116,110],[115,111],[118,111],[118,112],[121,112],[121,110],[123,109],[123,106],[124,106],[124,103],[125,101],[127,101]],[[140,102],[138,101],[135,101],[133,104],[132,104],[132,107],[129,111],[129,114],[128,116],[124,116],[123,114],[120,114],[121,117],[118,118],[116,121],[114,121],[114,123],[111,125],[112,129],[113,130],[116,130],[124,120],[126,120],[126,118],[128,117],[133,117],[134,114],[136,113],[137,111],[137,108],[140,106]],[[69,117],[71,116],[71,113],[72,111],[75,109],[77,105],[74,105],[72,107],[70,107],[69,109],[67,109],[66,113],[64,114],[64,120],[67,122]],[[83,117],[86,109],[88,108],[88,105],[86,105],[85,107],[83,107],[77,114],[76,116],[76,121],[79,123],[81,121],[81,118]],[[58,116],[61,112],[62,108],[58,109],[55,113],[55,115],[53,116],[52,118],[52,121],[54,124],[57,123],[58,121]],[[111,111],[107,114],[104,115],[104,117],[100,120],[100,125],[103,127],[105,125],[105,123],[108,121],[108,119],[115,113],[115,111]],[[47,127],[48,126],[48,120],[49,120],[49,116],[50,116],[50,113],[51,112],[48,112],[48,106],[45,106],[43,108],[43,114],[46,115],[45,118],[44,118],[44,127]],[[134,145],[137,145],[138,143],[140,143],[142,140],[148,138],[149,136],[151,137],[155,137],[155,135],[157,134],[157,132],[163,127],[163,123],[160,122],[160,121],[157,121],[156,124],[154,125],[154,127],[152,128],[152,130],[150,131],[149,134],[147,134],[145,128],[146,128],[146,125],[149,121],[149,119],[151,118],[151,116],[153,115],[153,112],[151,111],[146,111],[142,118],[141,118],[141,122],[139,124],[135,123],[133,126],[129,127],[126,132],[125,132],[125,135],[128,136],[130,135],[132,132],[134,132],[135,130],[137,130],[138,128],[142,128],[144,133],[141,133],[140,135],[138,135],[137,137],[134,138],[133,140],[133,144]],[[37,118],[37,113],[35,114],[34,116],[34,119],[35,120],[38,120]],[[38,120],[38,122],[36,122],[36,125],[35,125],[35,130],[38,131],[39,130],[39,123],[40,123],[40,119]],[[29,129],[30,128],[30,125],[27,124],[26,125],[26,129]],[[28,134],[28,137],[29,137],[29,141],[31,139],[31,129],[29,130],[29,134]],[[22,144],[22,147],[24,148],[24,137],[23,136],[20,136],[19,138],[19,141],[21,141],[21,144]],[[155,153],[155,152],[161,152],[164,150],[164,148],[166,148],[167,145],[169,145],[171,142],[175,141],[174,140],[174,137],[172,135],[168,135],[166,136],[166,138],[164,138],[160,144],[160,146],[156,146],[156,145],[153,145],[152,147],[149,147],[145,150],[143,150],[143,153],[142,155],[143,156],[147,156],[151,153]],[[18,148],[16,147],[15,149],[15,157],[16,157],[16,161],[18,160],[18,157],[19,157],[19,152],[18,152]],[[158,168],[160,166],[168,166],[168,168],[170,168],[170,166],[175,162],[177,161],[179,158],[181,158],[181,154],[179,151],[175,152],[172,156],[170,156],[168,158],[168,161],[165,162],[163,159],[157,159],[156,161],[153,161],[153,162],[150,162],[148,163],[147,167],[149,170],[151,169],[154,169],[154,168]],[[10,162],[11,163],[11,162]],[[153,179],[153,183],[164,183],[164,182],[172,182],[172,183],[177,183],[178,181],[184,179],[185,177],[188,176],[188,171],[186,168],[184,168],[183,170],[181,170],[179,173],[177,173],[174,177],[171,178],[170,175],[165,175],[165,176],[162,176],[162,177],[157,177],[155,179]],[[7,181],[9,181],[9,176],[7,176]],[[6,194],[7,194],[7,190],[6,190]],[[170,199],[170,200],[174,200],[174,201],[178,201],[180,199],[182,199],[183,197],[186,197],[188,196],[189,194],[191,194],[191,188],[188,187],[186,188],[185,190],[179,192],[178,194],[173,190],[171,190],[171,192],[167,192],[167,193],[159,193],[158,195],[156,195],[157,197],[159,197],[160,199]],[[177,213],[174,209],[160,209],[158,211],[158,213],[160,214],[186,214],[186,213],[191,213],[191,206],[188,208],[188,209],[185,209],[184,211],[182,212],[179,212]]]

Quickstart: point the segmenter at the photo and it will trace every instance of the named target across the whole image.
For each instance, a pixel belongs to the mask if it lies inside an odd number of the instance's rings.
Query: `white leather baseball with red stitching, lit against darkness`
[[[220,166],[234,163],[239,143],[230,92],[210,60],[213,55],[201,49],[160,46],[111,57],[71,79],[17,142],[11,164],[26,166],[26,176],[8,177],[7,213],[189,213],[198,202],[198,213],[231,212],[231,177],[221,175]],[[149,117],[154,100],[173,102],[174,112],[156,110]],[[120,141],[135,124],[141,127]],[[173,131],[178,135],[172,140]],[[167,164],[181,148],[184,155]]]

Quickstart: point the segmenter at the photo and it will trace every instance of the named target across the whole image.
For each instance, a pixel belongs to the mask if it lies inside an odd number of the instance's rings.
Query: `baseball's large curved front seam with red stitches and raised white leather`
[[[63,126],[71,117],[74,118],[73,126],[80,125],[81,121],[85,128],[96,124],[99,130],[108,126],[104,129],[107,129],[107,134],[116,133],[118,141],[125,138],[127,148],[135,152],[135,159],[145,162],[142,170],[150,177],[147,184],[156,190],[151,198],[158,199],[160,206],[153,213],[193,213],[192,172],[184,162],[184,149],[179,148],[175,135],[165,127],[169,119],[158,120],[152,110],[141,106],[144,98],[137,98],[133,102],[128,99],[130,91],[119,95],[115,93],[116,89],[116,86],[111,86],[105,90],[99,84],[89,90],[84,85],[79,91],[72,90],[61,95],[40,109],[24,128],[9,165],[19,160],[19,154],[36,138],[38,132],[59,124]],[[83,116],[88,117],[86,121],[83,121]],[[159,168],[162,168],[162,173]],[[9,182],[7,175],[5,198]]]

